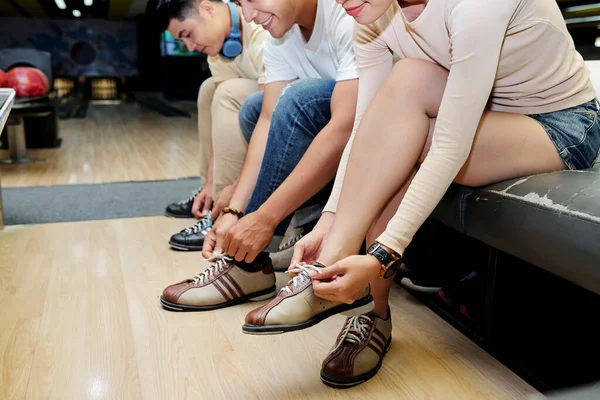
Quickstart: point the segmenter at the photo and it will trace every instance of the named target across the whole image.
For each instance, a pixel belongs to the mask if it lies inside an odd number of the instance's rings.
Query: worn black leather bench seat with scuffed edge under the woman
[[[479,189],[456,185],[432,217],[600,294],[600,164]]]

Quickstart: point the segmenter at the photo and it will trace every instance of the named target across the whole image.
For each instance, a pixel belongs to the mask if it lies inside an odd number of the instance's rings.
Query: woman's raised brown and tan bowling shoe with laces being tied
[[[373,309],[370,286],[365,287],[363,296],[352,304],[317,297],[308,273],[319,268],[321,267],[307,264],[298,265],[290,270],[298,275],[290,280],[273,300],[248,313],[242,331],[254,335],[291,332],[311,327],[338,313],[352,316]]]

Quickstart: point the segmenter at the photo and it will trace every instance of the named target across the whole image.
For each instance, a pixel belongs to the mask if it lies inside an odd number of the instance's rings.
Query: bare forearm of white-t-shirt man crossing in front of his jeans
[[[330,122],[316,136],[296,168],[260,207],[259,211],[280,223],[335,177],[350,136],[345,126]]]

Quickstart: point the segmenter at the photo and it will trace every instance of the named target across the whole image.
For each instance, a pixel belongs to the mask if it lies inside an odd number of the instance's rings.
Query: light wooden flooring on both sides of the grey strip
[[[196,174],[193,121],[127,105],[112,114],[95,108],[89,120],[61,124],[63,147],[41,151],[48,157],[43,164],[3,166],[3,183]],[[382,369],[344,391],[319,380],[341,316],[264,337],[241,332],[257,304],[206,313],[163,310],[163,288],[206,266],[198,253],[167,246],[169,235],[189,224],[152,217],[0,231],[0,399],[495,400],[535,393],[398,288]],[[279,285],[285,280],[280,276]]]

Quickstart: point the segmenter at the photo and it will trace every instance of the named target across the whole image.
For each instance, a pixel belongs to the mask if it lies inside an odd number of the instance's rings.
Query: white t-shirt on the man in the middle
[[[265,39],[265,84],[303,78],[344,81],[358,78],[352,35],[354,18],[334,0],[318,0],[308,42],[298,25],[282,38]]]

